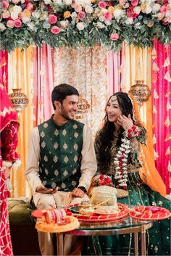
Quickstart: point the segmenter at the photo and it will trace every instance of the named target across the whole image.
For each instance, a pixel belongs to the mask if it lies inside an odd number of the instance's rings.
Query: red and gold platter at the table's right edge
[[[130,217],[138,220],[164,220],[171,212],[163,207],[137,206],[130,210]]]

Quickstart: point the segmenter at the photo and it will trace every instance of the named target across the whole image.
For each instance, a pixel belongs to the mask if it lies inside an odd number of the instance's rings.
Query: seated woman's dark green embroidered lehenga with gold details
[[[98,161],[98,172],[101,173],[101,164],[98,155],[99,138],[96,136],[95,149]],[[116,141],[114,141],[116,142]],[[135,141],[134,141],[135,143]],[[111,147],[111,159],[118,148],[115,143]],[[153,191],[149,186],[143,184],[138,174],[141,163],[138,161],[138,146],[132,146],[128,164],[128,197],[118,198],[117,202],[125,205],[153,205],[164,207],[170,210],[170,201],[162,197],[158,192]],[[111,160],[107,175],[112,177],[114,185],[114,163]],[[140,236],[138,235],[140,243]],[[89,236],[82,255],[134,255],[133,235],[117,236]],[[140,249],[139,245],[139,249]],[[153,222],[153,226],[146,232],[147,255],[170,255],[170,219]],[[140,252],[139,252],[140,253]]]

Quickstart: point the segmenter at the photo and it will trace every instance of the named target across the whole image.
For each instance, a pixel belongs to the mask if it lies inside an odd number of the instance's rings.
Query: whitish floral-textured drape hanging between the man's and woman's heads
[[[69,83],[91,106],[80,121],[91,127],[93,135],[104,118],[107,102],[107,52],[104,48],[61,48],[54,54],[54,86]]]

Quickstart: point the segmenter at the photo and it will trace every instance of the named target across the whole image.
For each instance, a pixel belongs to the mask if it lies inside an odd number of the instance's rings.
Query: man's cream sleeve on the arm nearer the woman
[[[88,191],[91,186],[91,179],[97,170],[96,155],[93,147],[93,138],[91,130],[87,125],[83,128],[83,149],[82,149],[82,161],[81,161],[81,177],[79,186],[83,186]]]

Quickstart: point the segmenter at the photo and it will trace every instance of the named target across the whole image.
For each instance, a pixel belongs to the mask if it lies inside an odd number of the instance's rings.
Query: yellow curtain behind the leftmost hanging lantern
[[[12,197],[29,197],[30,189],[25,181],[25,162],[30,130],[33,128],[33,46],[25,51],[16,49],[9,54],[9,94],[12,88],[22,88],[22,93],[28,96],[28,107],[20,112],[17,152],[20,154],[22,165],[12,170]]]

